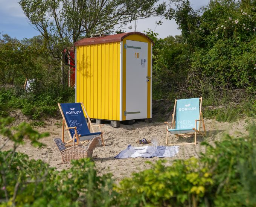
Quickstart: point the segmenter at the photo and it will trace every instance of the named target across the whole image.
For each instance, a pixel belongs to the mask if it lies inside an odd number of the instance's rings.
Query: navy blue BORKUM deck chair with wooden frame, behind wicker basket
[[[59,110],[63,118],[62,121],[62,142],[64,142],[64,125],[68,130],[70,140],[66,142],[73,142],[73,139],[79,144],[84,143],[87,140],[91,140],[94,137],[101,137],[102,145],[105,146],[103,135],[101,132],[101,125],[92,125],[90,117],[85,110],[83,103],[58,103]],[[83,107],[83,109],[82,109]],[[84,113],[88,119],[88,125],[84,116]],[[98,132],[94,131],[93,126],[99,128]],[[90,132],[90,128],[92,132]]]

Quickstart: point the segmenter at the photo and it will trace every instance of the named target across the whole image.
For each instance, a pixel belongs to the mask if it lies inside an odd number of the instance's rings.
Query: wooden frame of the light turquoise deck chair
[[[197,133],[203,135],[204,137],[206,137],[206,129],[205,129],[205,125],[204,125],[204,119],[203,119],[203,114],[201,112],[201,108],[202,108],[202,101],[203,101],[203,97],[200,97],[199,98],[200,100],[200,108],[199,108],[199,119],[198,120],[195,120],[195,128],[193,128],[194,132],[191,132],[191,133],[185,133],[185,134],[174,134],[176,135],[177,137],[179,138],[186,138],[186,136],[191,136],[191,135],[194,135],[195,136],[195,141],[194,143],[178,143],[178,144],[168,144],[168,135],[169,135],[169,125],[170,125],[170,122],[165,122],[165,124],[167,124],[167,128],[166,128],[166,145],[196,145],[197,143]],[[177,99],[175,99],[175,103],[174,103],[174,111],[173,111],[173,114],[172,114],[172,122],[171,122],[171,128],[174,129],[175,128],[175,112],[176,112],[176,102],[177,102]],[[197,130],[197,122],[199,122],[199,128]],[[201,124],[203,126],[201,126]],[[203,127],[203,131],[200,131],[200,128]]]

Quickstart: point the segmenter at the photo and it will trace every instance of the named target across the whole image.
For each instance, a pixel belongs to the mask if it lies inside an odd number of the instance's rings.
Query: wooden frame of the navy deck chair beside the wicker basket
[[[103,126],[104,124],[93,125],[93,124],[91,123],[91,119],[90,119],[90,117],[88,116],[87,111],[85,110],[84,103],[83,103],[83,102],[80,102],[80,103],[81,103],[81,105],[82,105],[82,107],[83,107],[83,109],[84,109],[85,115],[87,116],[87,119],[88,119],[88,129],[90,130],[90,128],[91,128],[91,130],[92,130],[93,132],[95,132],[93,126],[96,126],[96,127],[98,127],[99,131],[102,132],[102,131],[101,131],[101,126]],[[66,119],[65,119],[65,117],[64,117],[64,114],[63,114],[63,111],[62,111],[62,108],[61,108],[61,104],[58,103],[58,106],[59,106],[59,110],[61,111],[61,115],[62,115],[62,118],[63,118],[63,120],[62,120],[62,142],[64,143],[64,128],[65,128],[65,126],[66,126],[66,129],[67,129],[67,131],[68,131],[69,138],[70,138],[70,140],[67,141],[66,144],[69,143],[69,142],[73,142],[73,139],[76,138],[76,139],[78,140],[77,145],[79,145],[79,144],[80,144],[80,139],[79,139],[79,134],[78,134],[77,131],[76,131],[76,126],[74,126],[74,127],[69,127],[69,126],[67,125]],[[65,125],[65,126],[64,126],[64,125]],[[75,129],[75,134],[74,134],[73,137],[72,137],[72,135],[70,134],[69,129]],[[75,137],[75,136],[76,136],[76,137]],[[87,142],[87,141],[88,141],[88,140],[82,141],[81,144],[82,144],[82,143],[85,143],[85,142]],[[105,146],[104,138],[103,138],[103,132],[101,133],[101,141],[102,141],[102,145]],[[69,145],[66,145],[66,146],[69,146]],[[70,145],[70,146],[72,146],[72,145]]]

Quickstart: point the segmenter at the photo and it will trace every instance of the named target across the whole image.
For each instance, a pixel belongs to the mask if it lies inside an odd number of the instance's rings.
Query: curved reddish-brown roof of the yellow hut
[[[125,38],[129,35],[135,35],[135,34],[145,36],[154,44],[154,42],[147,35],[145,35],[141,32],[127,32],[127,33],[120,33],[120,34],[116,34],[116,35],[106,35],[103,37],[84,38],[82,40],[75,42],[74,46],[83,46],[83,45],[100,44],[100,43],[115,43],[115,42],[122,41],[123,38]]]

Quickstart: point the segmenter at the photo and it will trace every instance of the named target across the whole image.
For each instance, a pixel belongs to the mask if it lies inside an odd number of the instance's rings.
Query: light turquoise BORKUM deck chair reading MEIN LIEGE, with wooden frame
[[[178,145],[196,145],[197,133],[206,136],[203,114],[201,112],[202,100],[203,97],[194,99],[175,99],[171,128],[169,128],[169,122],[165,122],[167,123],[166,145],[168,145],[168,133],[175,134],[178,137],[187,135],[195,136],[194,143],[180,143]],[[204,131],[200,131],[201,124],[203,125]]]

